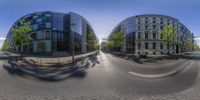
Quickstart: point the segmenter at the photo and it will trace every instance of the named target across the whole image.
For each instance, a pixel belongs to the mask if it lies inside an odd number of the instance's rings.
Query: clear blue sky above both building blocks
[[[18,18],[38,11],[76,12],[103,37],[129,16],[163,14],[179,19],[195,36],[200,36],[199,5],[199,0],[0,0],[0,47],[1,38],[6,37]]]

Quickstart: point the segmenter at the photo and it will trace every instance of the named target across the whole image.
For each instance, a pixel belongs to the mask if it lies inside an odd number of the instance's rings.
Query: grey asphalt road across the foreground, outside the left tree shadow
[[[7,57],[1,53],[0,56],[0,100],[199,100],[200,98],[198,58],[181,63],[180,66],[188,62],[191,64],[186,64],[187,67],[175,75],[147,79],[129,74],[135,70],[133,62],[101,52],[93,63],[73,73],[71,77],[60,81],[48,81],[5,69]]]

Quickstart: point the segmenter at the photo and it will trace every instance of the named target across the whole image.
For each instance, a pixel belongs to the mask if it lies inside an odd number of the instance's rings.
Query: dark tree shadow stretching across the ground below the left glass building
[[[56,63],[51,66],[37,65],[31,61],[9,59],[4,64],[4,69],[11,75],[20,77],[32,76],[44,81],[62,81],[69,78],[84,78],[87,75],[87,69],[94,67],[98,62],[97,54],[89,58],[77,60],[73,66],[71,63]]]

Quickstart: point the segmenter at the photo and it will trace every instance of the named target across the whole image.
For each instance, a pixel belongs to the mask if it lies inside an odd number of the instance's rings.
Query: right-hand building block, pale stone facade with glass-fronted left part
[[[162,40],[160,31],[167,26],[173,27],[177,42]],[[158,14],[129,17],[120,22],[108,38],[117,32],[125,34],[124,46],[120,50],[132,54],[177,54],[186,51],[184,48],[186,40],[193,42],[193,34],[179,20]]]

